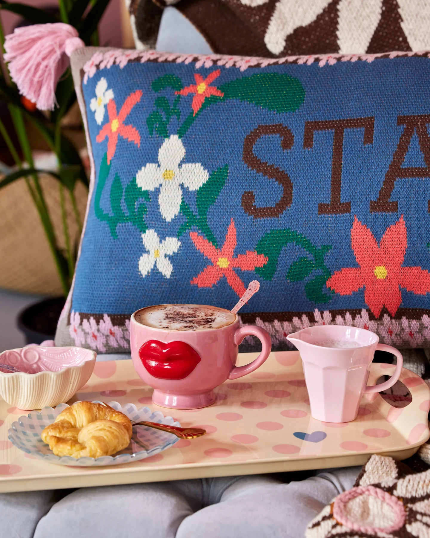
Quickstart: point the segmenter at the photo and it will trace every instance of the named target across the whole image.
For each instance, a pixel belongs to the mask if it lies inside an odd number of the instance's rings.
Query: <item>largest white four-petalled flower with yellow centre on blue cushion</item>
[[[136,174],[136,183],[142,190],[160,187],[158,203],[162,217],[170,222],[179,213],[182,202],[181,185],[189,190],[199,189],[209,173],[199,162],[185,163],[185,148],[177,134],[164,140],[158,152],[159,164],[148,163]]]

